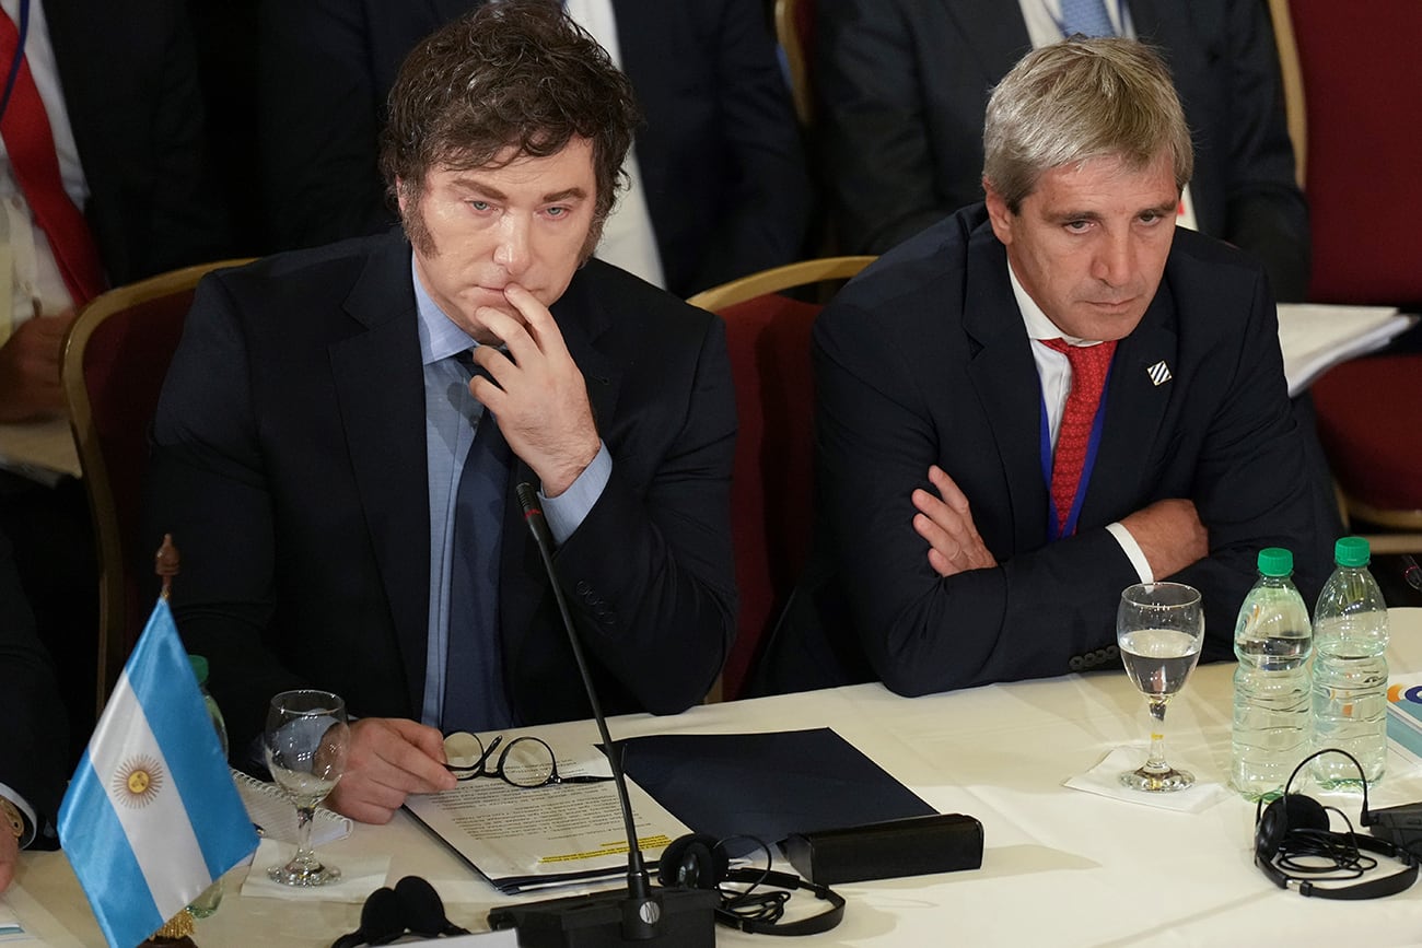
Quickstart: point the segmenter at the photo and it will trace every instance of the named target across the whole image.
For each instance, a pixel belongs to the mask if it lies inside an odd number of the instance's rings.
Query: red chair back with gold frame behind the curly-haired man
[[[64,344],[61,375],[94,517],[100,567],[98,708],[118,679],[151,604],[138,577],[156,550],[137,550],[148,428],[198,280],[209,263],[159,274],[94,298]]]

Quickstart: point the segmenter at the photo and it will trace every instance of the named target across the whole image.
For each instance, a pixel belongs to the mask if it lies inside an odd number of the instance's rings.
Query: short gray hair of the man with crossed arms
[[[1162,151],[1185,188],[1194,149],[1165,60],[1135,40],[1074,37],[1028,53],[993,90],[983,178],[1015,215],[1052,168],[1112,156],[1140,169]]]

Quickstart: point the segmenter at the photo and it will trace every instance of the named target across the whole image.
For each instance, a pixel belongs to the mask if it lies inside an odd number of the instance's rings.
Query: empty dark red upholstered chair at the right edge
[[[1283,0],[1271,0],[1276,6]],[[1287,0],[1307,119],[1313,225],[1308,296],[1422,306],[1422,3]],[[1297,105],[1295,105],[1297,111]],[[1314,382],[1318,439],[1344,519],[1391,530],[1374,553],[1422,551],[1422,429],[1411,424],[1422,357],[1344,362]]]

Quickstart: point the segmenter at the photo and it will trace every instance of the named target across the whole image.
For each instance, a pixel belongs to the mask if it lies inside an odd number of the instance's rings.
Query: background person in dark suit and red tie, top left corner
[[[47,239],[31,215],[36,196],[26,192],[11,158],[16,149],[37,148],[27,138],[31,125],[23,126],[26,132],[6,125],[0,193],[18,202],[20,216],[11,216],[3,240],[13,249],[6,286],[14,301],[11,307],[10,298],[0,300],[0,337],[9,337],[0,338],[0,421],[27,421],[64,408],[60,344],[77,307],[105,286],[219,259],[229,232],[206,165],[183,4],[10,0],[3,6],[16,36],[24,26],[24,71],[41,99],[47,146],[67,198],[82,213],[100,270],[82,291],[60,279],[54,237]],[[7,112],[23,108],[24,85],[17,81]],[[31,222],[34,246],[21,247],[18,242],[31,239],[20,225],[28,230]]]

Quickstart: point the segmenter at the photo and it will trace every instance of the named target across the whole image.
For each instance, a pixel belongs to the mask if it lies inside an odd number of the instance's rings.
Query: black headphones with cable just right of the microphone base
[[[757,840],[759,843],[759,840]],[[715,918],[722,925],[738,928],[752,935],[818,935],[829,931],[845,918],[845,897],[829,885],[808,883],[791,873],[774,873],[765,868],[731,868],[725,840],[705,833],[693,833],[671,841],[657,861],[657,881],[667,888],[708,888],[721,894]],[[761,843],[769,861],[769,847]],[[722,890],[722,883],[744,883],[744,891]],[[771,885],[781,891],[757,891]],[[803,888],[829,903],[829,908],[818,915],[799,921],[778,924],[785,912],[791,891]],[[791,891],[785,891],[791,890]]]

